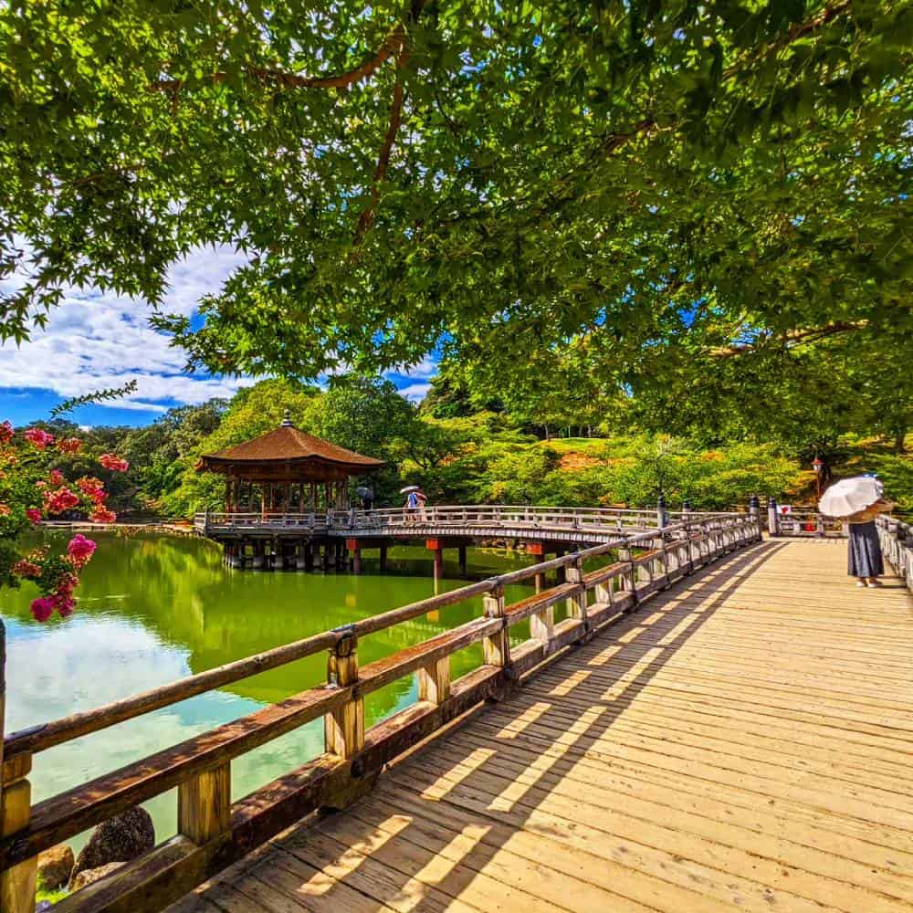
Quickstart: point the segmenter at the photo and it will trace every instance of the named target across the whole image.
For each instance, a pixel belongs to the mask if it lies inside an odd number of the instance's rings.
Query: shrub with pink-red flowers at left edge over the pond
[[[68,510],[79,509],[100,523],[117,519],[105,507],[108,493],[99,478],[83,476],[69,481],[52,467],[55,457],[79,453],[81,448],[78,437],[56,438],[41,428],[28,428],[19,439],[10,422],[0,423],[0,586],[35,582],[41,595],[31,608],[39,622],[46,622],[55,612],[62,618],[72,614],[79,572],[91,561],[96,544],[79,533],[62,554],[47,546],[21,554],[20,535],[42,519]],[[130,467],[114,454],[102,454],[99,463],[114,472]]]

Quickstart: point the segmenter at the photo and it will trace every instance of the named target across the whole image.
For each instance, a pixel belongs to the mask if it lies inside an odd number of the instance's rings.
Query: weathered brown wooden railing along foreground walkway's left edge
[[[565,647],[589,639],[604,625],[699,566],[760,539],[757,512],[624,535],[105,707],[15,732],[3,742],[3,911],[32,913],[36,857],[41,851],[176,788],[179,833],[175,837],[55,907],[58,913],[162,909],[302,816],[315,809],[341,809],[352,803],[370,789],[386,762],[480,702],[503,697],[522,677],[551,661]],[[610,563],[589,570],[597,559]],[[566,582],[506,604],[506,586],[559,568],[564,569]],[[541,582],[544,578],[538,579]],[[360,638],[477,596],[484,601],[480,617],[393,656],[359,666]],[[561,602],[567,604],[568,617],[556,622],[554,607]],[[510,629],[525,619],[530,620],[530,639],[511,645]],[[452,681],[450,657],[479,641],[483,665]],[[34,806],[30,803],[28,774],[39,752],[324,650],[329,651],[326,683]],[[412,675],[418,677],[418,701],[366,731],[364,698]],[[234,759],[320,718],[325,720],[326,750],[319,758],[232,803]]]

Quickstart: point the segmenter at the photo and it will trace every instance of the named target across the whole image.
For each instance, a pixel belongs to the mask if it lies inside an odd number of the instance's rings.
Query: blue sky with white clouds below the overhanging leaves
[[[240,262],[228,247],[195,251],[173,266],[164,310],[193,314],[196,301],[218,289]],[[10,282],[3,285],[9,287]],[[47,418],[72,396],[135,380],[137,389],[112,404],[80,407],[70,414],[80,425],[148,425],[177,405],[231,396],[250,378],[184,373],[184,353],[148,325],[142,301],[67,289],[63,305],[51,312],[45,331],[20,346],[0,347],[0,421],[14,425]],[[410,399],[421,399],[436,364],[422,364],[388,376]]]

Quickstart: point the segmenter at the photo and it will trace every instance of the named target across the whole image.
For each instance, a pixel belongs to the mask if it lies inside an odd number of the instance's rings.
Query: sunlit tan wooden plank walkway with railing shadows
[[[175,905],[913,909],[913,601],[845,543],[686,579]]]

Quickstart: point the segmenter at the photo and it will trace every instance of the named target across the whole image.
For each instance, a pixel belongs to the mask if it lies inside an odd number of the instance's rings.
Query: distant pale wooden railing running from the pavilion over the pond
[[[194,526],[205,533],[219,531],[310,530],[318,534],[422,534],[426,530],[509,531],[526,530],[595,532],[601,537],[616,536],[624,530],[650,530],[689,519],[726,517],[727,513],[693,511],[635,510],[627,508],[542,508],[511,505],[434,506],[416,509],[380,508],[376,510],[339,510],[326,513],[198,513]],[[662,518],[662,520],[660,520]]]

